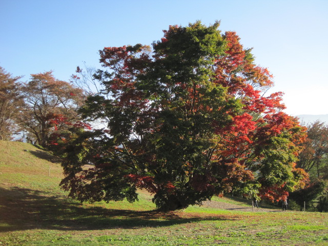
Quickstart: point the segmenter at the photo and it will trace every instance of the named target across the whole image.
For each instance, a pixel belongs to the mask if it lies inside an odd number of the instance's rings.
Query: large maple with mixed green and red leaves
[[[304,184],[305,129],[282,111],[282,93],[264,95],[269,71],[218,27],[170,26],[152,47],[100,50],[105,90],[81,112],[107,127],[67,137],[70,196],[132,202],[140,188],[168,211],[227,192],[279,199]]]

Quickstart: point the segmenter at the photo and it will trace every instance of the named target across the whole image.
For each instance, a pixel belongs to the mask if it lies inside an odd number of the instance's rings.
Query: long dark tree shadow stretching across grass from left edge
[[[102,230],[167,227],[200,220],[234,220],[220,215],[181,217],[177,213],[114,210],[82,206],[62,196],[30,189],[0,188],[0,231]]]

